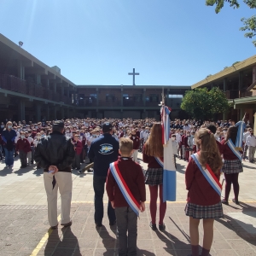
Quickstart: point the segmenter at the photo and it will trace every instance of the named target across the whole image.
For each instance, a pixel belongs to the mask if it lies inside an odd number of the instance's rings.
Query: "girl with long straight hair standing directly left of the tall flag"
[[[159,160],[163,160],[162,126],[154,123],[147,142],[143,147],[143,162],[148,163],[148,170],[145,174],[145,183],[148,184],[150,191],[150,227],[156,230],[156,210],[158,190],[160,196],[160,219],[159,229],[165,230],[164,218],[166,215],[166,202],[163,202],[163,167]]]

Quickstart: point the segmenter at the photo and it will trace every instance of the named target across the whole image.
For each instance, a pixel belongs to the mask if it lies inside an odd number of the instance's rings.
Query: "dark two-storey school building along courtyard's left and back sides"
[[[190,86],[77,85],[0,34],[0,120],[64,118],[144,119],[160,116],[165,95],[179,116]]]

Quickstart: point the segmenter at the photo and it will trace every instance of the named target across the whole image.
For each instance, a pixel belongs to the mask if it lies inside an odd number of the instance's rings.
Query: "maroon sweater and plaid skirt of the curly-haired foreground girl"
[[[220,172],[215,174],[218,178]],[[222,218],[223,208],[218,193],[202,174],[191,157],[185,172],[186,189],[189,190],[185,213],[193,218]]]

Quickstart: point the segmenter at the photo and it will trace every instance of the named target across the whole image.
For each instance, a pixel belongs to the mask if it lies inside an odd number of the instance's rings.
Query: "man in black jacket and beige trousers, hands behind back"
[[[54,230],[58,226],[57,193],[61,194],[61,225],[70,226],[70,207],[72,198],[72,172],[75,151],[70,138],[64,132],[64,123],[55,121],[52,133],[38,143],[35,161],[44,168],[44,188],[48,201],[48,220]]]

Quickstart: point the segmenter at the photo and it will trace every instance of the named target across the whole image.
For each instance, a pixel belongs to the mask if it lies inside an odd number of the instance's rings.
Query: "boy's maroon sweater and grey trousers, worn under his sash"
[[[117,166],[135,200],[139,204],[146,201],[142,167],[132,161],[131,158],[125,157],[119,158]],[[119,255],[137,255],[137,214],[125,200],[110,169],[108,169],[106,190],[109,201],[114,201],[114,211],[119,230]]]

